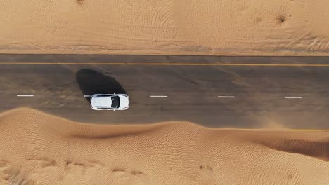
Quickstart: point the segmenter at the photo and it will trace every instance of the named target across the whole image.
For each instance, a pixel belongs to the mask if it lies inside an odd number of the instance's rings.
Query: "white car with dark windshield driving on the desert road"
[[[129,96],[126,94],[95,94],[91,96],[93,110],[126,110],[129,108]]]

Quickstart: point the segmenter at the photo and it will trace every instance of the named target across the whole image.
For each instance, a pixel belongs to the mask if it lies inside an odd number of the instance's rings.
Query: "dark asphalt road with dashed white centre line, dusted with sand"
[[[0,74],[0,111],[32,107],[86,123],[329,129],[329,57],[0,55]],[[130,96],[127,111],[93,111],[84,97],[112,92]]]

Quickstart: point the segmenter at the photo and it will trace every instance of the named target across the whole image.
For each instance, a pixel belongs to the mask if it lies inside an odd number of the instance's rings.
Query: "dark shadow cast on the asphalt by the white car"
[[[105,76],[92,69],[80,69],[75,75],[79,88],[83,95],[89,96],[94,94],[126,94],[115,78]],[[86,97],[90,102],[90,97]]]

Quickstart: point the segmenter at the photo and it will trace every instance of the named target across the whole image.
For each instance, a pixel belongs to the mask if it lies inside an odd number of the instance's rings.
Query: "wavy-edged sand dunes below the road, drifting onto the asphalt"
[[[0,184],[328,184],[327,132],[0,114]]]

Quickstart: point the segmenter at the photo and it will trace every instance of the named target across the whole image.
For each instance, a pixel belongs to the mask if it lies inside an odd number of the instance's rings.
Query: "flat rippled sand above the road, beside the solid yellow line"
[[[0,1],[0,53],[328,55],[327,0]]]

